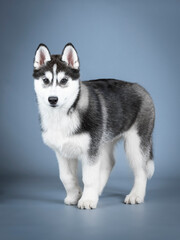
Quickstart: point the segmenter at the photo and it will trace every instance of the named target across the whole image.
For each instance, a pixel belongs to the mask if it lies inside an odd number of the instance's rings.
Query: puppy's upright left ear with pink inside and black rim
[[[49,49],[44,44],[40,44],[36,50],[34,58],[34,68],[39,69],[51,60]]]

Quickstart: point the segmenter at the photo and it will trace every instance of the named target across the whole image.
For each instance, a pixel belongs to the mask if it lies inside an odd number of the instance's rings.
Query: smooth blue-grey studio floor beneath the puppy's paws
[[[144,204],[125,205],[130,179],[110,179],[97,209],[63,203],[58,178],[2,179],[1,240],[180,239],[180,179],[148,182]]]

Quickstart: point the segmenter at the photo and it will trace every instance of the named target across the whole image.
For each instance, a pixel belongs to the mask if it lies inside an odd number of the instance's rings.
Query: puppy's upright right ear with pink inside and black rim
[[[68,43],[64,47],[62,51],[62,61],[66,62],[71,68],[79,69],[79,58],[72,43]]]

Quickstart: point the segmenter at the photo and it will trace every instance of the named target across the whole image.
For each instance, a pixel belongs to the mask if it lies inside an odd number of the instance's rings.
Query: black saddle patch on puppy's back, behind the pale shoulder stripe
[[[97,89],[105,100],[108,113],[107,130],[112,138],[127,131],[135,122],[141,106],[141,99],[133,91],[133,83],[115,79],[98,79],[84,82]]]

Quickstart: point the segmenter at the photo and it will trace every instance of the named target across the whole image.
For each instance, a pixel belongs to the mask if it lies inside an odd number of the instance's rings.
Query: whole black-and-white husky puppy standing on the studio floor
[[[56,153],[67,193],[64,203],[80,209],[97,207],[120,139],[134,174],[124,203],[144,202],[147,179],[154,173],[155,108],[150,94],[137,83],[116,79],[81,81],[79,57],[71,43],[61,55],[51,55],[40,44],[33,77],[42,138]],[[83,192],[77,177],[79,159]]]

